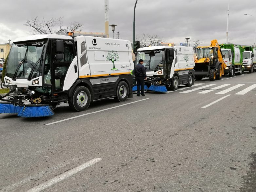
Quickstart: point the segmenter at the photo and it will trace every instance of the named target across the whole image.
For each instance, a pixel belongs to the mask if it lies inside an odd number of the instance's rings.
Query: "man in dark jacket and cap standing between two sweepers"
[[[137,96],[140,96],[140,88],[141,88],[141,96],[145,96],[144,93],[144,85],[145,81],[147,80],[146,70],[143,66],[144,61],[142,59],[139,60],[139,63],[135,66],[135,77],[137,83]]]

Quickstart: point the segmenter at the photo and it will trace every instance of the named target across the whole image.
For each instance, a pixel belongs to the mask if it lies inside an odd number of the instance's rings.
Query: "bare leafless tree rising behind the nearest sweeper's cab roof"
[[[31,20],[27,20],[25,26],[31,27],[32,32],[34,34],[53,34],[56,31],[63,29],[63,19],[64,17],[59,17],[58,19],[51,18],[50,20],[45,20],[43,17],[43,20],[40,21],[38,19],[38,16],[32,17]],[[81,28],[83,27],[83,24],[78,22],[72,22],[70,23],[70,26],[65,27],[66,30],[70,31],[81,31]]]

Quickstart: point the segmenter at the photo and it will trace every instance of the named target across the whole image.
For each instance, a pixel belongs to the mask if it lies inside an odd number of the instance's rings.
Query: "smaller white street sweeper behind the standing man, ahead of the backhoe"
[[[194,82],[194,51],[184,46],[153,46],[138,49],[136,64],[144,60],[149,90],[167,92]]]

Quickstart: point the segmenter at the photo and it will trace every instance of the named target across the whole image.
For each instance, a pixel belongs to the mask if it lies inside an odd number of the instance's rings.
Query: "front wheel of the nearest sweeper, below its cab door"
[[[75,88],[72,97],[68,98],[68,104],[74,111],[84,111],[91,103],[91,93],[87,87]]]

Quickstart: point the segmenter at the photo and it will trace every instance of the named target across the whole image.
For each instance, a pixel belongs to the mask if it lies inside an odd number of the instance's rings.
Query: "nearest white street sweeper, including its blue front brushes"
[[[81,33],[80,33],[81,34]],[[30,35],[11,47],[0,97],[0,113],[21,117],[54,114],[60,103],[74,111],[106,98],[132,97],[134,68],[130,41],[79,35]]]

